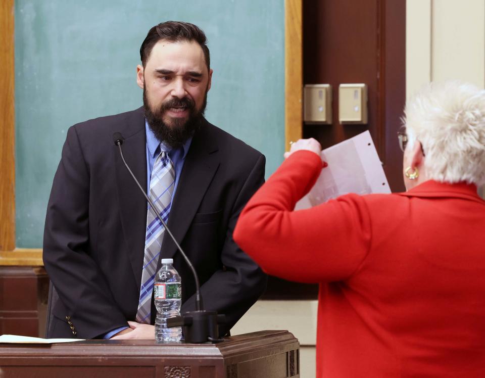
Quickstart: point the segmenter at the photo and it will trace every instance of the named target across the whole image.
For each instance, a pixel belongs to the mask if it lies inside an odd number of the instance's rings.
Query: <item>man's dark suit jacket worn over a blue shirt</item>
[[[113,133],[144,189],[143,110],[72,126],[47,207],[43,261],[60,301],[47,337],[100,337],[134,320],[138,306],[147,201],[123,165]],[[168,226],[195,266],[206,309],[226,315],[225,334],[263,293],[266,276],[232,240],[239,212],[264,181],[264,156],[205,122],[193,137]],[[174,243],[182,277],[182,312],[195,309],[194,280]],[[159,262],[160,266],[160,262]],[[152,306],[152,323],[155,315]]]

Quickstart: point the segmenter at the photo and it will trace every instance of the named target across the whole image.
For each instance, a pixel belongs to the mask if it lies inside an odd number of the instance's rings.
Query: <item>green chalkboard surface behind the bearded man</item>
[[[16,243],[42,246],[69,126],[142,104],[135,82],[150,27],[192,22],[214,69],[207,119],[266,155],[284,150],[283,0],[16,0]]]

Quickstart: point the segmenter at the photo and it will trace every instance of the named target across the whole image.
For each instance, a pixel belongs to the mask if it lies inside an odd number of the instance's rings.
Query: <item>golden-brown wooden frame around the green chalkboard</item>
[[[285,150],[302,137],[303,0],[285,0]],[[14,0],[0,4],[0,266],[42,266],[42,249],[15,246]]]

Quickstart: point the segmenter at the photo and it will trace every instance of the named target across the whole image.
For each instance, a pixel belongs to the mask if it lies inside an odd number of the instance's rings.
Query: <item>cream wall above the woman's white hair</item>
[[[407,0],[406,97],[449,79],[485,87],[485,2]]]

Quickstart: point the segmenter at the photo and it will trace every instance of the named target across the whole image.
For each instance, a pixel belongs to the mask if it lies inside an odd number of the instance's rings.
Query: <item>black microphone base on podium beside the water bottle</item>
[[[217,315],[216,311],[187,311],[182,316],[167,319],[168,327],[182,327],[185,343],[217,343],[219,325],[225,322],[225,315]]]

